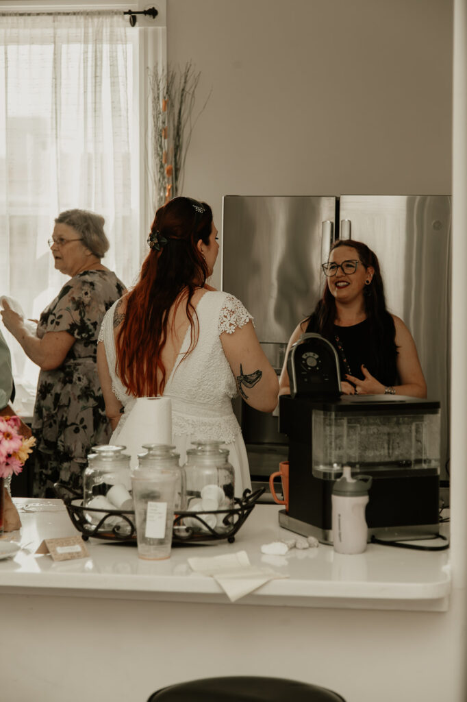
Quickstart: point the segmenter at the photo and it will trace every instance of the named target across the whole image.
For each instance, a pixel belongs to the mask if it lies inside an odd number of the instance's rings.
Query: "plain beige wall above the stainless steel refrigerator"
[[[168,0],[167,46],[219,228],[224,194],[451,192],[450,0]]]

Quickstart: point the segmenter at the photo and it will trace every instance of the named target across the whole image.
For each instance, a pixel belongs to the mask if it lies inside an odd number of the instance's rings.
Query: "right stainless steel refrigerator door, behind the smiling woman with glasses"
[[[441,402],[443,469],[449,456],[451,198],[343,195],[339,220],[345,222],[342,238],[364,241],[377,254],[388,310],[412,332],[428,397]]]

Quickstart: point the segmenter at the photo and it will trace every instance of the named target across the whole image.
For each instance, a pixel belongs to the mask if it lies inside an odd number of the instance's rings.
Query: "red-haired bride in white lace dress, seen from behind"
[[[111,442],[136,397],[169,397],[180,461],[191,442],[222,441],[241,496],[250,471],[231,398],[240,392],[255,409],[272,411],[276,371],[240,300],[205,284],[219,251],[210,207],[171,200],[156,212],[148,243],[140,281],[107,312],[97,346]]]

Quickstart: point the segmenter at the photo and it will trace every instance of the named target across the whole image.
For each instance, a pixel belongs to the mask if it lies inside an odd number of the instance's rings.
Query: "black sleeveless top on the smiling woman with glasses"
[[[367,367],[367,370],[379,380],[383,385],[395,385],[397,383],[397,373],[386,372],[381,374],[375,362],[374,345],[372,343],[372,331],[368,319],[363,322],[353,324],[353,326],[333,326],[332,336],[328,339],[339,357],[339,371],[341,380],[345,380],[345,376],[349,373],[360,380],[365,376],[362,373],[362,365]],[[316,324],[316,316],[311,315],[306,331],[314,331],[318,333]],[[395,359],[393,363],[395,369]],[[386,376],[386,377],[384,377]]]

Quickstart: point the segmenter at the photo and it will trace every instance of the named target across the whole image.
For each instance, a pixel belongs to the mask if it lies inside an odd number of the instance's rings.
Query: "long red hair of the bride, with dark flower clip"
[[[199,239],[209,244],[211,227],[210,206],[189,197],[175,197],[156,212],[149,234],[154,248],[126,298],[125,317],[116,336],[116,372],[135,397],[163,392],[166,378],[161,352],[168,336],[168,313],[174,303],[174,313],[177,311],[184,290],[191,326],[187,354],[196,346],[198,317],[191,298],[209,274],[197,244]]]

